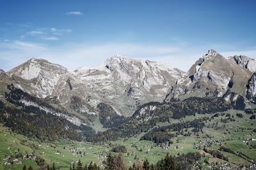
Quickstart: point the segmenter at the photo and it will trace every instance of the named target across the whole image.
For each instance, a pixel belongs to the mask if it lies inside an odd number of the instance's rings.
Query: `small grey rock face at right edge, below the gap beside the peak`
[[[246,98],[256,103],[256,73],[253,73],[252,77],[248,81]]]

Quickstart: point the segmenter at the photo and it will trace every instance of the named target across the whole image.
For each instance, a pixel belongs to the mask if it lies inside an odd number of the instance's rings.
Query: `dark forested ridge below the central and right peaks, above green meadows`
[[[230,110],[232,106],[221,97],[190,97],[184,101],[176,101],[171,103],[145,103],[129,117],[127,122],[119,127],[108,129],[100,132],[89,141],[115,141],[120,138],[129,138],[148,132],[159,122],[171,122],[188,116],[198,114],[213,114],[216,112]]]

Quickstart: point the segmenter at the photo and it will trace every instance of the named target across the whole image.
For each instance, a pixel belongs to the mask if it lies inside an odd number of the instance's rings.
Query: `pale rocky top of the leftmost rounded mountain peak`
[[[68,70],[44,59],[32,58],[7,72],[28,93],[47,97],[56,90],[60,81],[68,76]],[[67,79],[67,78],[66,78]],[[67,80],[63,80],[66,81]]]

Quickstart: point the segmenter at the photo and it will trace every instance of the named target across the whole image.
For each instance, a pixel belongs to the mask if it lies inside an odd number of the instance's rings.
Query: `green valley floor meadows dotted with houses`
[[[237,117],[237,113],[241,113],[243,118]],[[223,120],[230,114],[234,121],[225,122]],[[55,165],[59,169],[69,169],[70,165],[77,163],[80,159],[84,164],[95,162],[100,167],[102,161],[106,159],[107,154],[115,146],[124,145],[127,153],[124,153],[124,160],[127,167],[132,166],[135,159],[145,160],[156,164],[166,153],[177,155],[180,153],[200,152],[202,159],[197,165],[203,169],[212,169],[218,166],[215,163],[221,162],[220,166],[253,166],[256,161],[256,121],[250,119],[249,114],[244,111],[229,110],[220,113],[218,117],[209,122],[205,122],[206,126],[202,132],[192,133],[191,136],[182,134],[172,138],[172,145],[156,144],[152,141],[140,140],[144,133],[129,139],[112,141],[105,144],[93,143],[77,143],[68,139],[60,139],[55,143],[40,142],[36,139],[29,139],[26,136],[16,134],[10,129],[0,126],[0,169],[22,169],[24,164],[37,167],[36,159],[41,157],[47,164]],[[199,117],[212,117],[212,115],[198,115],[182,118],[182,120],[172,119],[170,124],[174,122],[182,122],[193,120]],[[158,126],[168,125],[169,123],[161,123]],[[225,126],[223,126],[225,125]],[[225,127],[225,128],[222,128]],[[191,129],[187,129],[191,131]],[[171,132],[175,133],[175,132]],[[221,146],[225,146],[230,150],[222,151]],[[218,150],[228,161],[214,157],[210,153],[206,153],[204,148],[210,150]],[[114,155],[118,153],[113,153]],[[214,163],[214,164],[212,164]],[[226,164],[227,163],[227,164]],[[196,169],[196,166],[195,166]],[[253,169],[253,167],[252,167]]]

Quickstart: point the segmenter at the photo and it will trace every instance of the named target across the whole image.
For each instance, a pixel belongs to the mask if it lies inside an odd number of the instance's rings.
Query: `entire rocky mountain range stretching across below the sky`
[[[75,71],[31,59],[10,71],[0,70],[0,101],[16,108],[17,103],[23,108],[37,107],[73,125],[105,131],[152,101],[222,97],[244,110],[250,107],[248,103],[256,103],[255,71],[254,59],[243,55],[226,58],[214,50],[186,73],[160,62],[120,55],[98,67]]]

